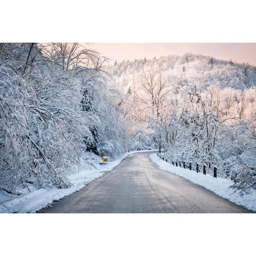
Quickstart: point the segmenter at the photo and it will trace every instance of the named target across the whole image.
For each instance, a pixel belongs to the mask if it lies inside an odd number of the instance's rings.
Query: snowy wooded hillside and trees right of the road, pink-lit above
[[[172,161],[256,188],[256,67],[185,54],[105,66],[129,131]],[[142,139],[141,139],[142,140]]]

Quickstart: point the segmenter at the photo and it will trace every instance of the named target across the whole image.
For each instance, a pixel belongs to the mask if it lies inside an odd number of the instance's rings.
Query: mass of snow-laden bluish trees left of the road
[[[66,188],[80,158],[90,162],[86,152],[101,154],[110,141],[111,158],[126,150],[104,60],[76,43],[1,45],[1,189]]]

